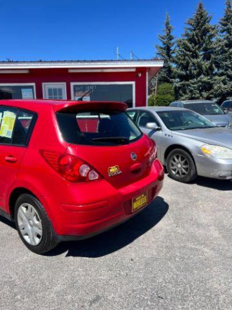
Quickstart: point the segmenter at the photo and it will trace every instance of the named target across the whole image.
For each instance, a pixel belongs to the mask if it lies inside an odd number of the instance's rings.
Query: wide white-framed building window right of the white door
[[[72,100],[120,101],[134,105],[134,82],[71,83]]]

